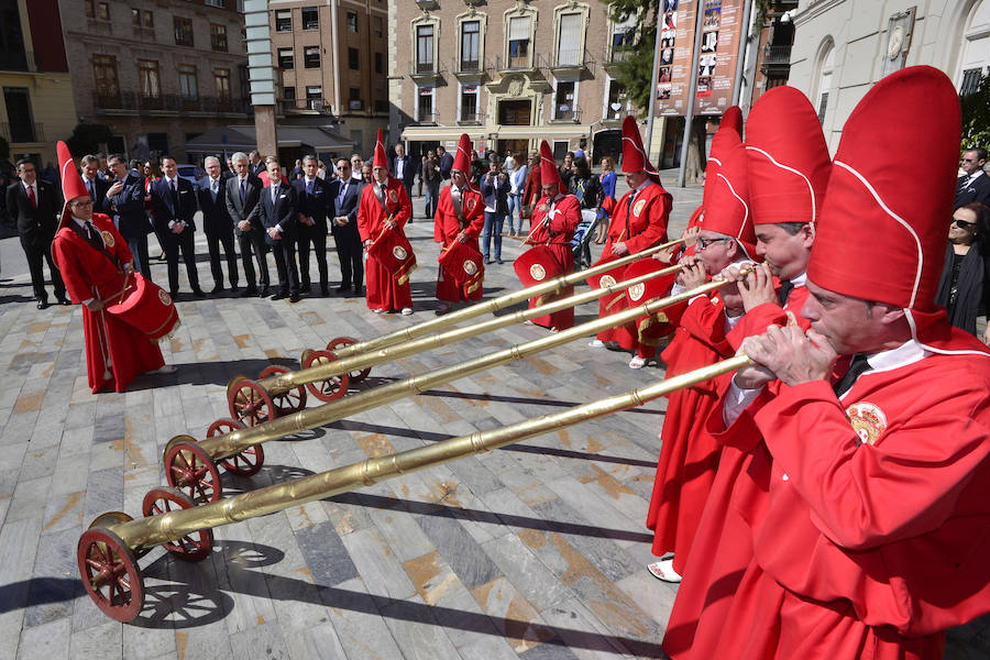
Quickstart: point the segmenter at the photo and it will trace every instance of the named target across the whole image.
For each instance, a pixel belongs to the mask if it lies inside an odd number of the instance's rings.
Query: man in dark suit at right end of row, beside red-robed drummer
[[[327,190],[332,220],[330,231],[340,258],[340,286],[337,287],[337,293],[360,296],[364,264],[361,234],[358,233],[358,206],[364,184],[351,178],[351,163],[346,158],[338,158],[337,175],[337,180]]]

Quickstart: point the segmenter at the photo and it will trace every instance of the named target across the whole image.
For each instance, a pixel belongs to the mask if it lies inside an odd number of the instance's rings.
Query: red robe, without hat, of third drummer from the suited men
[[[543,209],[543,206],[547,206]],[[550,219],[544,222],[547,216]],[[574,238],[574,230],[581,223],[581,205],[573,195],[558,195],[551,202],[549,198],[542,197],[532,210],[532,231],[529,233],[528,243],[531,245],[547,245],[553,254],[553,258],[561,267],[562,274],[569,274],[574,271],[574,251],[571,248],[571,241]],[[574,287],[569,286],[561,289],[552,299],[566,298],[574,295]],[[542,301],[550,301],[551,298],[540,297]],[[530,298],[529,308],[537,306],[540,298]],[[574,327],[574,308],[569,307],[550,315],[537,317],[532,322],[543,328],[557,328],[558,330],[566,330]]]

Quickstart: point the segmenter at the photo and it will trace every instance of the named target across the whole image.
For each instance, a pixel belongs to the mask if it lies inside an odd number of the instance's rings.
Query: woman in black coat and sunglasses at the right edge
[[[977,316],[990,310],[990,207],[975,202],[956,209],[948,239],[935,302],[948,310],[953,326],[977,334]],[[990,328],[981,339],[990,344]]]

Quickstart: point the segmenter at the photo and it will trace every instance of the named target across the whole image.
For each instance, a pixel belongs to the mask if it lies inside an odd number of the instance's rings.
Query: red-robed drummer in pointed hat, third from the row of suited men
[[[547,255],[553,260],[556,272],[566,275],[574,270],[574,251],[571,249],[571,240],[574,230],[581,223],[581,205],[573,195],[566,195],[561,190],[560,169],[553,160],[550,145],[543,140],[540,143],[540,180],[542,182],[542,197],[532,211],[532,229],[522,244],[543,245]],[[554,296],[566,298],[574,294],[574,287],[569,286]],[[530,298],[529,308],[532,309],[548,298]],[[532,319],[535,326],[542,326],[551,330],[566,330],[574,327],[574,308],[569,307],[560,311]]]

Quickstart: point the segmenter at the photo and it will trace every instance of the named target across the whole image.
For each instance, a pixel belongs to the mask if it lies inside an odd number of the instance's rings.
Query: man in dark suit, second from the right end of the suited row
[[[320,271],[320,293],[330,295],[330,282],[327,275],[327,208],[330,195],[329,184],[317,176],[319,162],[315,156],[302,158],[302,178],[293,182],[296,202],[299,209],[299,277],[302,280],[300,293],[308,294],[309,284],[309,245],[316,252],[317,267]]]

